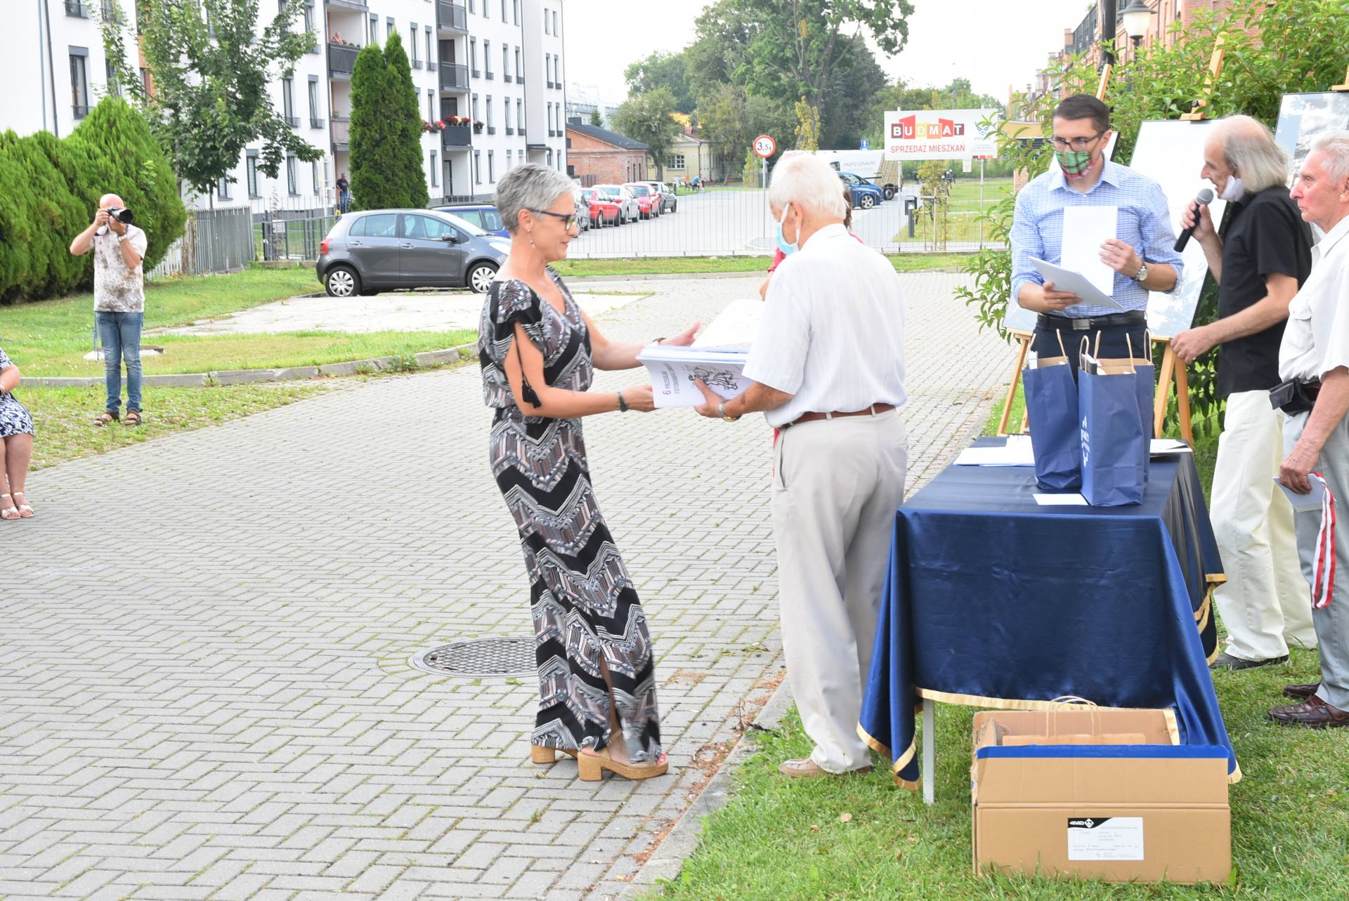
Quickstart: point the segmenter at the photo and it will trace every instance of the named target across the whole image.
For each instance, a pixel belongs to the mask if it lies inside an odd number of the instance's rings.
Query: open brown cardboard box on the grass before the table
[[[1025,743],[1036,735],[1047,743]],[[1067,735],[1085,740],[1055,743]],[[1105,743],[1114,736],[1128,738]],[[1226,882],[1226,749],[1178,740],[1171,711],[975,714],[975,873]]]

